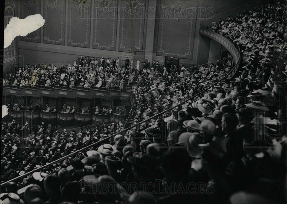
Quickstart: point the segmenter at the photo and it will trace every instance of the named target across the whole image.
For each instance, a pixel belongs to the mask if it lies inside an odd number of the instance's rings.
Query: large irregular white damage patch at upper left
[[[24,19],[12,17],[4,30],[4,48],[8,47],[18,35],[24,37],[30,32],[41,28],[44,23],[45,19],[41,14],[30,15]]]

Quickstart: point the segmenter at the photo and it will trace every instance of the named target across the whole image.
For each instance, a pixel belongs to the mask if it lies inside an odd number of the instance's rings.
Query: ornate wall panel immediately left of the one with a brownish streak
[[[117,0],[95,0],[93,5],[93,48],[116,50]]]

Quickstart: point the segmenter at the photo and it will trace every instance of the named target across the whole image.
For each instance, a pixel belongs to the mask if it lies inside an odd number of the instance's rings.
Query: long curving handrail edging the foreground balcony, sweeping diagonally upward
[[[237,45],[237,43],[236,43],[236,45]],[[181,103],[179,103],[179,104],[177,104],[177,105],[175,105],[175,106],[173,106],[173,107],[170,107],[170,108],[168,108],[168,109],[162,111],[161,113],[157,113],[156,115],[151,116],[150,118],[147,118],[147,119],[145,119],[145,120],[142,120],[142,121],[138,122],[137,124],[134,124],[134,125],[132,125],[132,126],[130,126],[130,127],[128,127],[128,128],[125,128],[125,129],[123,129],[123,130],[120,130],[119,132],[117,132],[117,133],[115,133],[115,134],[112,134],[112,135],[110,135],[110,136],[108,136],[108,137],[102,139],[101,141],[98,141],[98,142],[96,142],[96,143],[90,144],[90,145],[88,145],[87,147],[84,147],[84,148],[82,148],[82,149],[79,149],[79,150],[77,150],[77,151],[75,151],[75,152],[73,152],[73,153],[70,153],[69,155],[66,155],[66,156],[64,156],[64,157],[61,157],[61,158],[59,158],[59,159],[57,159],[57,160],[55,160],[55,161],[52,161],[52,162],[49,163],[49,164],[43,165],[43,166],[41,166],[41,167],[39,167],[39,168],[36,168],[36,169],[34,169],[34,170],[30,171],[30,172],[27,172],[27,173],[23,174],[23,175],[21,175],[21,176],[18,176],[18,177],[13,178],[13,179],[11,179],[11,180],[9,180],[9,181],[6,181],[6,182],[2,183],[0,186],[2,187],[2,186],[4,186],[4,185],[6,185],[8,182],[15,181],[15,180],[18,180],[18,179],[20,179],[20,178],[24,178],[24,177],[26,177],[26,176],[28,176],[28,175],[34,173],[34,172],[38,172],[38,171],[40,171],[40,170],[42,170],[42,169],[44,169],[44,168],[46,168],[46,167],[48,167],[48,166],[50,166],[50,165],[53,165],[53,164],[55,164],[55,163],[58,163],[59,161],[62,161],[62,160],[64,160],[64,159],[67,159],[67,158],[69,158],[69,157],[71,157],[71,156],[73,156],[73,155],[76,155],[76,154],[78,154],[78,153],[80,153],[80,152],[82,152],[82,151],[84,151],[84,150],[87,150],[87,149],[89,149],[89,148],[91,148],[91,147],[93,147],[93,146],[102,144],[102,142],[104,142],[104,141],[109,141],[111,138],[113,138],[113,137],[116,136],[117,134],[120,134],[121,132],[125,132],[125,131],[127,131],[127,130],[132,129],[132,128],[135,128],[135,127],[139,126],[140,124],[149,121],[150,119],[157,118],[158,116],[161,116],[162,114],[164,114],[164,113],[166,113],[166,112],[168,112],[168,111],[170,111],[170,110],[172,110],[172,109],[175,109],[175,108],[177,108],[177,107],[179,107],[179,106],[185,104],[185,103],[188,102],[189,100],[191,100],[191,99],[193,99],[193,98],[195,98],[195,97],[201,95],[201,94],[204,93],[206,90],[208,90],[208,89],[210,89],[211,87],[215,86],[218,82],[220,82],[220,81],[223,80],[224,78],[228,77],[228,76],[234,71],[234,69],[235,69],[237,66],[239,66],[240,59],[241,59],[241,58],[240,58],[240,50],[239,50],[238,61],[235,63],[235,65],[233,66],[233,68],[228,72],[228,74],[226,74],[223,78],[220,78],[219,80],[217,80],[216,82],[214,82],[211,86],[209,86],[209,87],[203,89],[202,91],[200,91],[199,93],[195,94],[194,96],[192,96],[192,97],[190,97],[190,98],[188,98],[188,99],[185,99],[185,100],[182,101]]]

